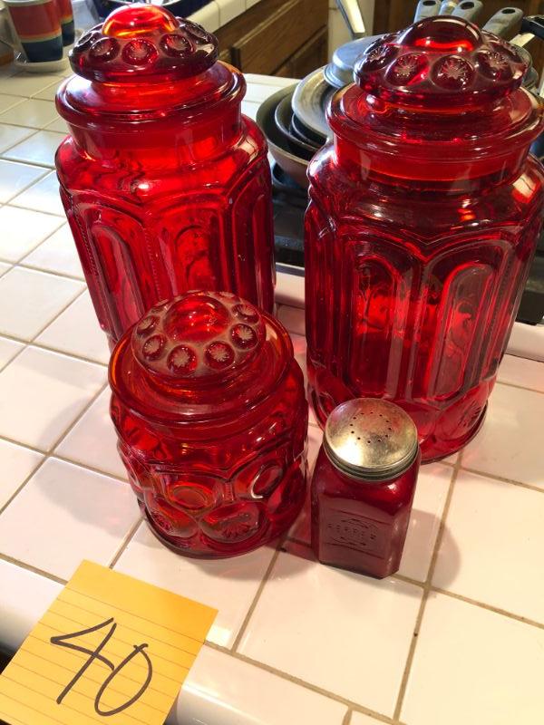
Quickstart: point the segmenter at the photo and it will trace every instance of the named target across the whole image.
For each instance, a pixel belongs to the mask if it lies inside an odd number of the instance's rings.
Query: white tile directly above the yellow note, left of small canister
[[[69,579],[82,559],[108,565],[139,516],[128,484],[47,459],[0,515],[0,550]]]

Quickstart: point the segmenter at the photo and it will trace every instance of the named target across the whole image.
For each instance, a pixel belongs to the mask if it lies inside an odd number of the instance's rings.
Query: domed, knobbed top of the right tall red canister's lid
[[[526,71],[514,46],[462,18],[439,15],[370,45],[355,65],[355,79],[387,102],[466,108],[516,90]]]

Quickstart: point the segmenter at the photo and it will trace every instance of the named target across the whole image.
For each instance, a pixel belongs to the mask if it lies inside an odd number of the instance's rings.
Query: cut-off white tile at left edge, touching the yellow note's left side
[[[2,648],[15,652],[63,585],[2,559],[0,582],[0,612],[3,622],[10,623],[2,629]]]

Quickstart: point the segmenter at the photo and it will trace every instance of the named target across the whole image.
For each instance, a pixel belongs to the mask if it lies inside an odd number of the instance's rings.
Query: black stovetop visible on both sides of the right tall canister
[[[302,189],[277,164],[272,167],[276,266],[279,271],[304,275],[304,213],[306,189]],[[529,271],[516,319],[539,324],[544,318],[544,231]]]

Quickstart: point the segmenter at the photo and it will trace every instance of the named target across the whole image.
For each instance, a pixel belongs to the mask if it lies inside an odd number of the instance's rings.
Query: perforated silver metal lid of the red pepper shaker
[[[417,456],[417,429],[398,405],[356,398],[338,405],[325,425],[325,452],[336,469],[353,478],[388,480]]]

